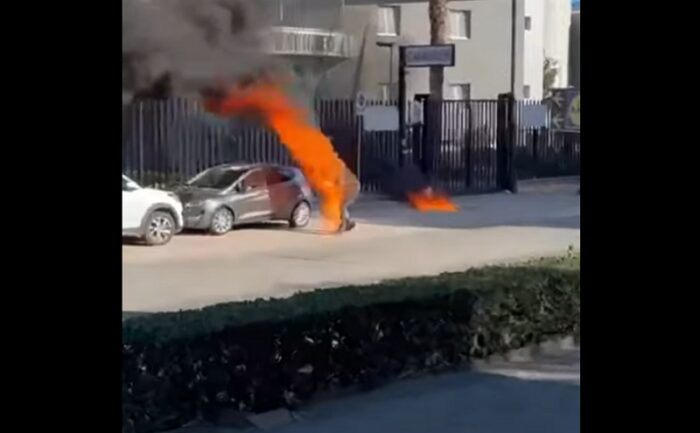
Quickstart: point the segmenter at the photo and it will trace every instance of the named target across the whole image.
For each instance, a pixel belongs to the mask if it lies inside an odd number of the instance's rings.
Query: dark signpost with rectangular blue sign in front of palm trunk
[[[406,68],[454,66],[454,44],[403,45],[399,47],[399,165],[404,165],[408,145],[406,143]]]

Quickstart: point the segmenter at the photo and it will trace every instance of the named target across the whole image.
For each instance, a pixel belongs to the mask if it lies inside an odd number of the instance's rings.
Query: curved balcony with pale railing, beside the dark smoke
[[[277,26],[263,35],[268,53],[344,60],[352,57],[352,36],[330,30]]]

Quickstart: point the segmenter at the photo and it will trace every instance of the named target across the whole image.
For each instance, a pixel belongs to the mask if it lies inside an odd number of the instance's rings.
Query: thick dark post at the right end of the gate
[[[515,124],[513,111],[515,98],[511,93],[498,95],[496,157],[498,188],[518,192],[515,176]]]

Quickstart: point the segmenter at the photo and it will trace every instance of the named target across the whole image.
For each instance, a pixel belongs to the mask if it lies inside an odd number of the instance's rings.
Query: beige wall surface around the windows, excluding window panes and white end
[[[539,0],[541,1],[541,0]],[[515,94],[522,97],[523,79],[523,0],[517,0]],[[374,4],[372,4],[374,3]],[[377,3],[401,7],[400,35],[377,36]],[[450,1],[451,9],[471,11],[471,38],[451,40],[455,44],[455,67],[445,69],[445,85],[469,84],[474,99],[495,99],[510,91],[511,81],[511,0]],[[379,95],[379,83],[386,82],[389,69],[396,71],[397,50],[389,58],[388,50],[377,42],[398,45],[430,43],[427,1],[346,0],[343,9],[343,31],[355,36],[359,56],[331,70],[321,85],[324,97],[354,97],[363,91]],[[541,69],[541,68],[540,68]],[[427,68],[409,69],[406,79],[407,97],[428,93]],[[394,72],[393,80],[396,80]],[[539,80],[542,81],[541,79]]]

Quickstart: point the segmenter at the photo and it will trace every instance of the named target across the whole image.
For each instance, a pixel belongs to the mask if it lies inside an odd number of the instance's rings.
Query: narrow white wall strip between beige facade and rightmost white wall
[[[542,99],[544,72],[544,0],[525,0],[525,17],[530,17],[530,30],[525,30],[523,53],[523,87],[530,86],[530,99]]]

